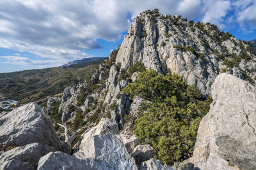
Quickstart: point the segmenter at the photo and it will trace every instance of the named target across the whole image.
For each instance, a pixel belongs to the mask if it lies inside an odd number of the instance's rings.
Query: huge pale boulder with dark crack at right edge
[[[193,157],[200,169],[256,169],[256,87],[230,74],[212,84],[211,109],[200,122]]]

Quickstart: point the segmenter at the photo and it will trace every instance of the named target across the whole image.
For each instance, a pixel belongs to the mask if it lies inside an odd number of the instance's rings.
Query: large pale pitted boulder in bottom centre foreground
[[[113,134],[91,136],[83,148],[85,158],[105,160],[116,169],[138,169],[135,160],[127,152],[124,143]]]

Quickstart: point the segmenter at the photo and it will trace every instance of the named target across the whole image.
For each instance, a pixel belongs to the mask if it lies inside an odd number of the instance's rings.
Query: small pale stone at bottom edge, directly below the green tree
[[[162,164],[160,160],[156,160],[154,158],[142,162],[140,165],[141,170],[175,170],[172,167]]]

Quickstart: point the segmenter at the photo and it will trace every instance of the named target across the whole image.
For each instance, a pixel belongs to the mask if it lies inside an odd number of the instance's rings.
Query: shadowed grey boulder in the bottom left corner
[[[31,143],[3,152],[0,155],[0,169],[35,169],[40,157],[55,148],[42,143]]]

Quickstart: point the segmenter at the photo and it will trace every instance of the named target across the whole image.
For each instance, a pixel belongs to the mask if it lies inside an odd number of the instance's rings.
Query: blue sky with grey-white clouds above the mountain
[[[256,38],[256,0],[0,0],[0,73],[108,57],[133,18],[155,8]]]

